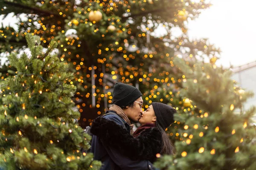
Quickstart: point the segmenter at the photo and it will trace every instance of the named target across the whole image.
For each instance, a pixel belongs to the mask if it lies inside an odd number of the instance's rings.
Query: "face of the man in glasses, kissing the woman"
[[[140,114],[142,113],[142,104],[143,99],[142,97],[139,97],[137,100],[134,101],[133,106],[125,108],[124,112],[130,120],[138,122],[138,120],[140,119]]]

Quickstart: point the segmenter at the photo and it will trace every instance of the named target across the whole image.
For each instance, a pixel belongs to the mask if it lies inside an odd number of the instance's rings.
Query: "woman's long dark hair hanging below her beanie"
[[[156,127],[162,134],[162,150],[160,154],[164,155],[174,155],[175,154],[175,148],[173,146],[173,143],[171,139],[167,136],[165,130],[163,127],[159,125],[159,123],[156,121]]]

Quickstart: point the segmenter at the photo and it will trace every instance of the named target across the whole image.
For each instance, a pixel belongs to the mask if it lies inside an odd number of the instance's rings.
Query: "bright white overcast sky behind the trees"
[[[199,1],[199,0],[195,0]],[[256,61],[256,0],[207,0],[212,6],[188,23],[188,35],[192,38],[209,38],[209,42],[221,48],[221,59],[216,65],[229,67]],[[8,22],[9,21],[9,22]],[[10,22],[12,15],[3,22]],[[1,22],[1,17],[0,17]]]

